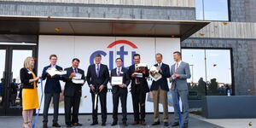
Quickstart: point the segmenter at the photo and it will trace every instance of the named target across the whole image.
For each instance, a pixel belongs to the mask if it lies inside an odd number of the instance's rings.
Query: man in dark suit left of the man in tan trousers
[[[140,63],[141,57],[139,54],[133,55],[133,61],[135,64],[129,67],[128,73],[131,77],[131,96],[134,112],[134,122],[132,125],[146,125],[145,123],[145,102],[146,94],[149,92],[148,88],[148,67],[145,67],[143,71],[139,71],[137,65]],[[137,72],[143,73],[142,78],[137,77]],[[140,110],[140,112],[139,112]],[[141,118],[140,118],[141,115]]]

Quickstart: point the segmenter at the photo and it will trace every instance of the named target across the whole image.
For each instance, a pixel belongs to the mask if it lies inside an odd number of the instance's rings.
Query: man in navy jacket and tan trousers
[[[155,55],[155,60],[157,64],[154,67],[157,68],[159,73],[162,75],[162,78],[153,81],[151,85],[151,92],[153,94],[153,101],[154,101],[154,124],[152,125],[160,125],[160,118],[159,118],[159,101],[161,99],[163,109],[164,109],[164,125],[168,126],[168,98],[167,92],[169,91],[167,79],[170,78],[170,67],[162,62],[163,55],[160,53]]]

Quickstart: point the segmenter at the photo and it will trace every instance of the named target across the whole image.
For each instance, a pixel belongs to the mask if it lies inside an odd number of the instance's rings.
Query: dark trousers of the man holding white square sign
[[[123,122],[126,122],[127,120],[127,108],[126,108],[126,102],[127,102],[127,92],[116,92],[113,93],[113,122],[118,121],[118,110],[119,110],[119,98],[121,101],[122,106],[122,113],[123,113]]]

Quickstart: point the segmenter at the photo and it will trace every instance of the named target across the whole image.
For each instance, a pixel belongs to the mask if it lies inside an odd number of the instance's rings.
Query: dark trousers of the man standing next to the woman
[[[44,93],[44,123],[48,122],[48,111],[51,98],[53,98],[54,104],[54,119],[52,120],[52,122],[58,122],[60,93]]]

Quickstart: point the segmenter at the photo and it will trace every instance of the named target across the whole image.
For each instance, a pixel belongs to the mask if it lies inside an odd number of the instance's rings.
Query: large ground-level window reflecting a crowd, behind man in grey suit
[[[182,49],[182,54],[190,66],[190,100],[232,93],[230,49]]]

